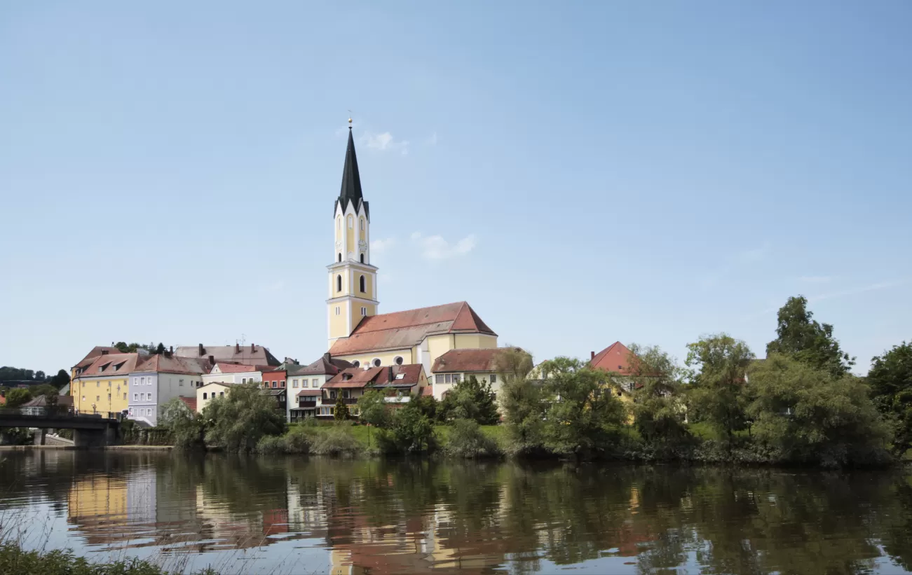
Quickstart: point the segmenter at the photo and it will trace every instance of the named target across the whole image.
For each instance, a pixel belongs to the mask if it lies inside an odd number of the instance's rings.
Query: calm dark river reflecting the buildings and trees
[[[0,454],[27,547],[226,573],[908,573],[912,474]]]

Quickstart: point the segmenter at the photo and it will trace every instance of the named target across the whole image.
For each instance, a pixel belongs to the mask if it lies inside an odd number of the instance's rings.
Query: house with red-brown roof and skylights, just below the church
[[[409,401],[410,395],[421,394],[427,385],[428,378],[424,374],[424,366],[420,364],[349,367],[323,385],[321,405],[317,408],[316,416],[335,416],[339,396],[348,406],[348,413],[358,416],[358,398],[369,389],[383,393],[391,406],[400,406]]]

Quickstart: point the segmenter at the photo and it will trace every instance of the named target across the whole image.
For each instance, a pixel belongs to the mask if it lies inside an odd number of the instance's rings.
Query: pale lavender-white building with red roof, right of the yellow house
[[[157,426],[161,407],[174,397],[196,397],[202,375],[211,370],[208,357],[149,356],[130,373],[128,416],[140,425]]]

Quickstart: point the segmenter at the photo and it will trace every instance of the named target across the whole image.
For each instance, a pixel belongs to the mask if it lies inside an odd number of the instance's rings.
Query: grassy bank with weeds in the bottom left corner
[[[111,563],[90,562],[72,550],[26,551],[16,543],[0,543],[0,573],[16,575],[168,575],[169,571],[148,560],[130,559]],[[215,575],[214,570],[196,575]]]

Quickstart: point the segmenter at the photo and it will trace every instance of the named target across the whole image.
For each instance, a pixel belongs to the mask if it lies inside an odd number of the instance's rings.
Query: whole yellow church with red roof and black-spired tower
[[[418,364],[453,349],[496,348],[497,334],[465,302],[378,313],[378,268],[370,263],[370,207],[361,191],[358,157],[348,118],[342,189],[333,222],[336,242],[326,300],[329,354],[356,367]]]

